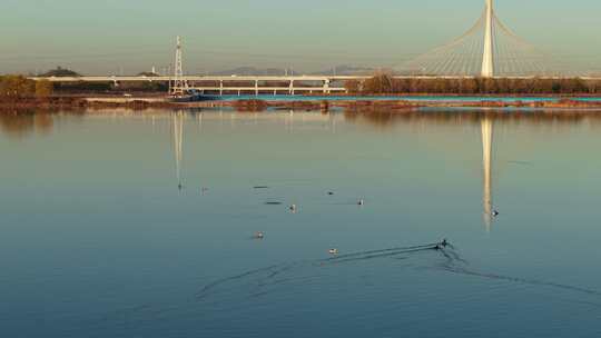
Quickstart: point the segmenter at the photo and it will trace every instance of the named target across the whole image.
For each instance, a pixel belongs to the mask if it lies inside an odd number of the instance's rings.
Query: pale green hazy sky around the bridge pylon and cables
[[[395,67],[461,36],[484,0],[1,0],[0,73],[236,67]],[[564,61],[601,69],[601,1],[495,0],[501,20]]]

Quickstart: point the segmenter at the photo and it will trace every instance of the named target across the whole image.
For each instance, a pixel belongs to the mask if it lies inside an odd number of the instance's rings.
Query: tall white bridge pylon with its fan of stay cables
[[[464,34],[395,69],[401,74],[436,77],[566,76],[550,56],[506,28],[485,0],[480,19]]]

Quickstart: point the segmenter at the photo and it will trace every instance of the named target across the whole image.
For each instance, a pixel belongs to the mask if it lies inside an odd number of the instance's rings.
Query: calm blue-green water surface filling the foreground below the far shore
[[[575,113],[3,116],[0,336],[600,337],[600,148]]]

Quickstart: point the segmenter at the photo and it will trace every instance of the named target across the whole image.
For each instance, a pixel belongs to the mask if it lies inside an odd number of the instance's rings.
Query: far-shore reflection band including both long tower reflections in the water
[[[221,108],[223,109],[223,108]],[[218,118],[223,121],[226,119],[223,110],[219,110]],[[112,116],[132,118],[136,116],[150,116],[152,125],[156,117],[166,117],[170,115],[173,123],[173,143],[176,162],[176,179],[178,189],[184,189],[181,177],[183,162],[183,137],[184,137],[184,120],[188,113],[191,113],[197,119],[198,129],[203,128],[204,110],[190,110],[170,112],[168,110],[151,110],[145,112],[131,112],[128,110],[98,110],[86,111],[85,116]],[[206,111],[211,111],[207,109]],[[215,110],[213,110],[215,111]],[[227,111],[227,110],[226,110]],[[1,112],[0,113],[0,131],[9,137],[28,137],[33,133],[47,133],[53,129],[55,119],[60,119],[65,115],[83,116],[81,112],[59,112],[52,115],[48,112],[19,111],[19,112]],[[230,122],[235,123],[237,115],[234,110],[228,115]],[[247,115],[247,113],[245,113]],[[295,131],[294,110],[284,113],[266,112],[264,115],[254,113],[255,123],[258,118],[277,119],[284,122],[288,132]],[[555,123],[588,123],[590,127],[597,127],[601,122],[601,115],[595,111],[583,110],[479,110],[479,109],[408,109],[408,110],[391,110],[386,108],[370,109],[346,109],[343,115],[329,112],[327,115],[314,112],[303,112],[299,115],[303,122],[306,118],[318,119],[324,121],[332,132],[336,130],[336,120],[344,119],[346,122],[373,125],[377,128],[388,128],[397,123],[413,125],[424,128],[427,125],[456,125],[477,123],[482,131],[482,156],[483,156],[483,221],[486,230],[490,231],[494,217],[492,201],[492,155],[493,155],[493,126],[495,121],[502,123],[529,123],[535,126],[553,126]]]

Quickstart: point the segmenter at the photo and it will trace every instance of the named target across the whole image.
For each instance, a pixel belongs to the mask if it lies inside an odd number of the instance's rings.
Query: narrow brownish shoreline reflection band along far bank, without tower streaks
[[[225,112],[230,119],[236,118],[236,111],[227,108],[215,109],[190,109],[178,111],[177,119],[188,113],[198,119],[198,128],[203,128],[203,112],[218,112],[217,117],[223,119]],[[372,125],[381,128],[392,127],[397,123],[415,125],[423,127],[424,125],[463,125],[463,123],[480,123],[482,116],[486,116],[492,121],[503,123],[529,123],[549,126],[554,123],[588,123],[591,127],[601,126],[601,113],[597,110],[481,110],[481,109],[459,109],[459,108],[427,108],[427,109],[403,109],[394,110],[385,107],[367,108],[347,108],[343,115],[336,113],[333,110],[327,115],[322,115],[319,111],[295,111],[289,110],[287,113],[278,113],[266,111],[264,113],[256,112],[253,115],[255,119],[258,117],[268,117],[282,119],[292,132],[294,131],[294,116],[299,112],[300,118],[305,119],[311,116],[316,119],[323,119],[324,122],[331,122],[331,128],[335,130],[337,118],[343,118],[346,122],[355,122],[357,125]],[[87,111],[0,111],[0,132],[12,137],[23,137],[33,133],[46,133],[53,129],[55,119],[68,117],[112,117],[112,118],[150,118],[155,125],[156,118],[171,116],[169,110],[146,110],[131,111],[128,109],[100,109]],[[239,113],[238,113],[239,115]],[[244,113],[247,115],[247,113]],[[223,121],[223,120],[221,120]],[[174,126],[175,127],[175,126]]]

